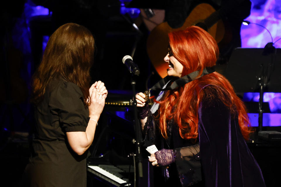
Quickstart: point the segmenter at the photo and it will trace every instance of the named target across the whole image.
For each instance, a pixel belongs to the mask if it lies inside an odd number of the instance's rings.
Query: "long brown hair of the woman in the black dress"
[[[75,23],[60,26],[49,38],[42,62],[32,77],[31,102],[40,103],[52,79],[62,78],[79,86],[86,105],[94,51],[95,40],[86,27]]]

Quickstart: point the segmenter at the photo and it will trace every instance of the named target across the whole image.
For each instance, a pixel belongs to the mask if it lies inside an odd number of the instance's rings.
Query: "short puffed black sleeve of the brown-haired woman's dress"
[[[85,132],[90,117],[80,88],[72,82],[59,81],[50,90],[49,107],[52,113],[59,116],[62,131]]]

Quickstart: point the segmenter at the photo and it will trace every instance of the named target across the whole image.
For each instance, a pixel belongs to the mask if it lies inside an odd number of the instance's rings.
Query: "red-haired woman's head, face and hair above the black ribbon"
[[[169,76],[184,77],[194,71],[201,75],[205,67],[216,64],[219,56],[217,42],[202,28],[190,26],[172,31],[168,36],[169,48],[164,60],[169,66]]]

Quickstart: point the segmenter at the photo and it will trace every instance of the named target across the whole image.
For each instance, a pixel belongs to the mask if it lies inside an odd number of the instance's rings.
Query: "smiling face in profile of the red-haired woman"
[[[169,76],[180,78],[184,66],[177,60],[177,58],[175,58],[172,55],[170,56],[170,53],[167,53],[164,60],[169,64],[169,68],[167,69],[167,74]]]

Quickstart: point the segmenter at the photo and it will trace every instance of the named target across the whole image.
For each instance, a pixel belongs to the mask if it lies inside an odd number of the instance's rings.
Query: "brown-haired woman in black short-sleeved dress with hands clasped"
[[[78,24],[49,38],[33,75],[36,126],[25,186],[86,186],[87,150],[107,96],[101,81],[90,87],[94,51],[91,32]]]

